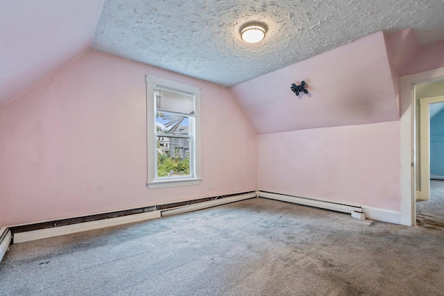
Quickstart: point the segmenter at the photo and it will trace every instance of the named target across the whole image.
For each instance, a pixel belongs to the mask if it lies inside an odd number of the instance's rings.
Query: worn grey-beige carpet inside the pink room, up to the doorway
[[[253,198],[11,245],[0,295],[444,295],[444,232]]]

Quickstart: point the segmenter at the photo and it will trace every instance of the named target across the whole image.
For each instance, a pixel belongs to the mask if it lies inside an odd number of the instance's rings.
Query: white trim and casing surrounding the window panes
[[[189,177],[171,178],[169,180],[158,180],[155,177],[155,165],[157,162],[157,146],[155,134],[155,98],[154,86],[160,85],[177,89],[182,92],[194,94],[194,175]],[[147,161],[148,161],[148,181],[146,182],[148,189],[169,188],[176,186],[191,186],[198,185],[202,182],[200,175],[200,89],[198,87],[191,87],[189,85],[182,85],[178,82],[156,78],[153,76],[146,76],[146,147],[147,147]],[[191,153],[191,152],[190,152]],[[190,159],[191,161],[191,159]],[[191,167],[191,166],[190,166]]]

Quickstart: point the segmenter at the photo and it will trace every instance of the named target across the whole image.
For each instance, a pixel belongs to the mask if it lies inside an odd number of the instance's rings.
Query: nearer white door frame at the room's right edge
[[[401,224],[416,224],[415,85],[444,80],[444,67],[401,77]]]

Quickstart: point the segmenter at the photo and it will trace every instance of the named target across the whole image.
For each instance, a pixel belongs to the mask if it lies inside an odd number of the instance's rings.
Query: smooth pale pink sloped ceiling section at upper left
[[[102,4],[1,1],[0,106],[87,51]]]

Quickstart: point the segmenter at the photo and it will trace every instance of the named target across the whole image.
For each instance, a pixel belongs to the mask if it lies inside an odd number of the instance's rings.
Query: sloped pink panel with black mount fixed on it
[[[399,120],[384,33],[232,87],[258,134]],[[291,83],[305,80],[309,94]]]

